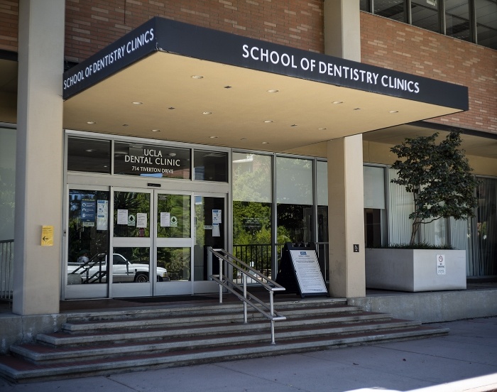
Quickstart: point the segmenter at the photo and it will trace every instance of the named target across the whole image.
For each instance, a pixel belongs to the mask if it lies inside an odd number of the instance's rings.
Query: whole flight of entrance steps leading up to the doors
[[[249,311],[248,322],[243,322],[239,301],[72,313],[60,332],[38,334],[34,344],[13,346],[11,354],[0,356],[0,376],[26,383],[448,333],[364,312],[340,299],[285,298],[275,307],[286,317],[275,324],[275,344],[271,344],[270,323],[260,313]]]

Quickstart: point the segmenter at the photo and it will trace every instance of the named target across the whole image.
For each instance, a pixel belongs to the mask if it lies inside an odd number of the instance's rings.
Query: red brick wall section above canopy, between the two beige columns
[[[66,60],[88,58],[153,16],[324,50],[322,0],[67,0]]]

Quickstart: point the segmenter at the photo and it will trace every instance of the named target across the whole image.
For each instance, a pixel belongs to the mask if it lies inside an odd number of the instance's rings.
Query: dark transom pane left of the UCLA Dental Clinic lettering
[[[87,173],[111,173],[111,142],[68,137],[67,170]]]

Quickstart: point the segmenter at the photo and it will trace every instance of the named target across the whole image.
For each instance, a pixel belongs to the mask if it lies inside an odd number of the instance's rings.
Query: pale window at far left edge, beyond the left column
[[[13,239],[16,130],[0,128],[0,241]]]

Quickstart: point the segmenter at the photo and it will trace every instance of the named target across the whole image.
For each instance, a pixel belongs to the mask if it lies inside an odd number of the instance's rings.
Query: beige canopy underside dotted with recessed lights
[[[104,134],[291,152],[333,138],[457,111],[156,52],[67,99],[64,126]]]

